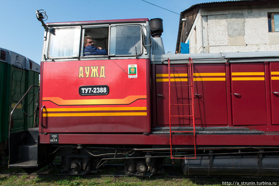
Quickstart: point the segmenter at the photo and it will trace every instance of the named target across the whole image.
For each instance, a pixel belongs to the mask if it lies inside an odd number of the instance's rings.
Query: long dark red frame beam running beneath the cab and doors
[[[40,143],[48,144],[49,134],[39,134]],[[117,140],[115,140],[117,139]],[[279,134],[196,135],[197,145],[278,145]],[[145,144],[169,145],[169,134],[59,134],[59,144]],[[173,145],[193,145],[193,135],[173,135]]]

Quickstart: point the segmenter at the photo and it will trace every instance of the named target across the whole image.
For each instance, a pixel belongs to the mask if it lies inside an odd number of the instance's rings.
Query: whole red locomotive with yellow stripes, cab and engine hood
[[[9,166],[58,156],[85,174],[123,159],[127,175],[149,176],[170,157],[184,174],[278,175],[278,52],[165,55],[161,23],[44,25],[38,128]],[[85,36],[108,55],[84,55]]]

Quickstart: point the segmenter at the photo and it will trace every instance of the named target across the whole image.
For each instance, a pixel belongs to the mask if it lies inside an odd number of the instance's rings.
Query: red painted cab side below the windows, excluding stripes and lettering
[[[120,68],[118,65],[122,68]],[[137,78],[128,78],[128,64],[137,64]],[[45,128],[40,132],[64,133],[64,132],[149,132],[150,127],[150,61],[147,59],[130,60],[88,60],[88,61],[64,61],[43,63],[43,75],[41,76],[41,104],[45,108],[97,108],[97,107],[147,107],[146,110],[128,111],[54,111],[44,113],[106,113],[106,112],[145,112],[147,116],[77,116],[77,117],[43,117]],[[105,78],[79,78],[79,67],[105,66]],[[91,68],[90,68],[91,69]],[[43,81],[42,81],[43,80]],[[107,85],[108,95],[79,95],[80,86]],[[142,96],[147,99],[133,100],[128,104],[79,105],[79,100],[110,100],[124,99],[127,96]],[[57,105],[49,98],[59,97],[63,100],[75,100],[75,105]],[[46,99],[47,98],[47,99]],[[55,99],[53,99],[55,100]],[[55,102],[55,101],[54,101]],[[42,121],[42,120],[40,120]]]

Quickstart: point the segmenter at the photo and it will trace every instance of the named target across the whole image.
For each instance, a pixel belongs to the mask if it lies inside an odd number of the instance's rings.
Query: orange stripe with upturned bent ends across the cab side
[[[52,101],[57,105],[97,105],[131,104],[137,99],[146,99],[146,95],[129,95],[123,99],[63,100],[60,97],[43,97],[43,101]]]

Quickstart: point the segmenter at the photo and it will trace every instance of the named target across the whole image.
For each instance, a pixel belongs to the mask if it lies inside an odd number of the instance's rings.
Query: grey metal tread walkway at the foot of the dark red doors
[[[191,131],[193,127],[171,127],[172,131]],[[195,127],[196,134],[264,134],[263,131],[246,127]],[[155,127],[151,134],[169,134],[169,127]],[[176,132],[176,134],[184,134]]]

